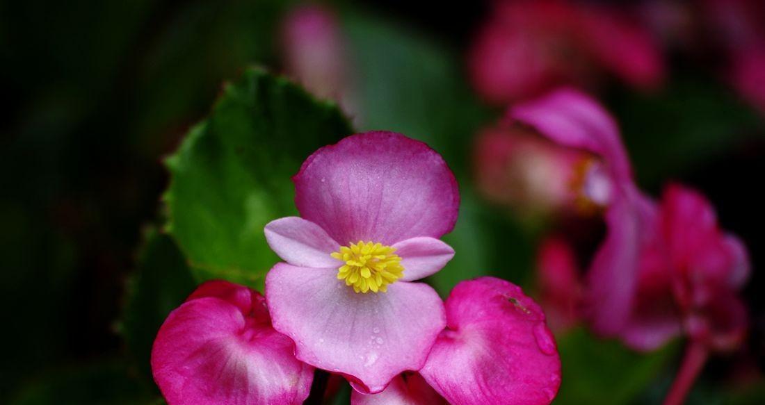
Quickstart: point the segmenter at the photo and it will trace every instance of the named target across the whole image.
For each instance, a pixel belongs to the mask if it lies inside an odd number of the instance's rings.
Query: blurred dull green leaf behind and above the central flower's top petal
[[[490,114],[477,103],[454,50],[417,31],[351,13],[344,18],[364,130],[397,131],[467,174],[470,142]]]

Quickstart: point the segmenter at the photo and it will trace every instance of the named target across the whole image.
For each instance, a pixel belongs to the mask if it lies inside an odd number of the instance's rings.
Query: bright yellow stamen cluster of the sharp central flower
[[[401,258],[395,251],[390,246],[364,241],[341,246],[340,251],[331,254],[345,262],[337,271],[337,279],[345,280],[345,285],[353,286],[356,293],[384,293],[388,284],[404,276]]]

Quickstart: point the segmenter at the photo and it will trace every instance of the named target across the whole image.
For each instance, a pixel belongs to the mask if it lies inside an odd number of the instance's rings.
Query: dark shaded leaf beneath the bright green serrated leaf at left
[[[138,255],[138,268],[125,293],[121,325],[131,360],[146,381],[151,381],[151,345],[159,327],[194,291],[195,285],[186,259],[174,241],[156,228],[148,228]]]

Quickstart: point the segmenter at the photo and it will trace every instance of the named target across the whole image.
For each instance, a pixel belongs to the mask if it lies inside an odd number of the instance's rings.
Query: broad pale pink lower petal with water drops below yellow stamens
[[[276,264],[265,295],[274,328],[295,341],[301,361],[345,375],[364,393],[421,368],[446,323],[428,285],[398,281],[386,293],[354,293],[334,268]]]

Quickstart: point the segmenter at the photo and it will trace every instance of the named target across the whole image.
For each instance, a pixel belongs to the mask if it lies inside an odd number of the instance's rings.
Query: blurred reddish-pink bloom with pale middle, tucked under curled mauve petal
[[[578,204],[574,187],[591,160],[587,152],[500,122],[477,136],[473,160],[478,190],[493,203],[532,216],[589,210],[587,204]]]

